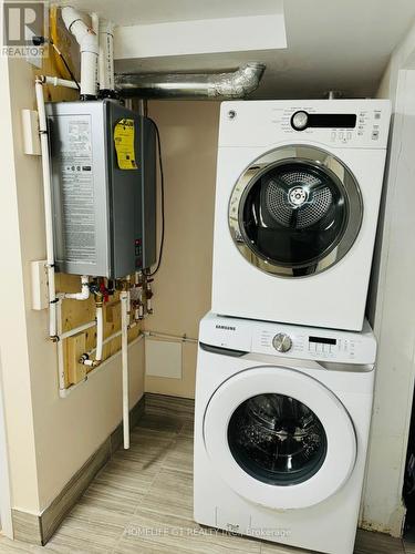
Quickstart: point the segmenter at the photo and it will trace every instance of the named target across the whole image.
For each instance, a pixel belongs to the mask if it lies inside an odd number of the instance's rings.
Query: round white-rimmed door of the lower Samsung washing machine
[[[282,367],[255,367],[225,381],[205,412],[216,470],[250,502],[301,509],[334,494],[356,460],[356,437],[338,397]]]

